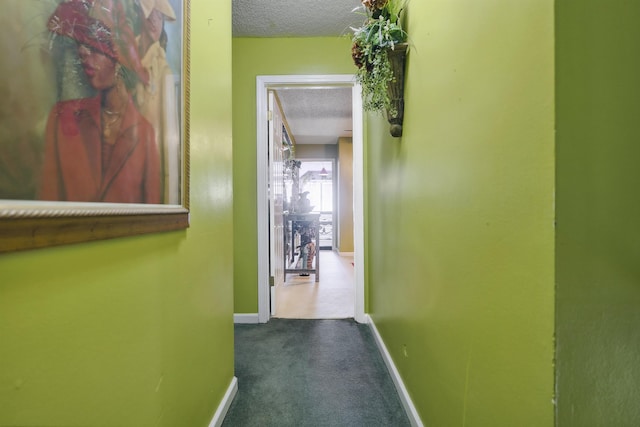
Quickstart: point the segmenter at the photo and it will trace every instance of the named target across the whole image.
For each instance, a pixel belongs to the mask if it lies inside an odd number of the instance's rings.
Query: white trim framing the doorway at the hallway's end
[[[258,206],[258,321],[271,317],[269,307],[269,194],[267,168],[267,92],[290,86],[350,86],[353,110],[353,228],[355,320],[366,323],[364,313],[364,148],[361,88],[352,74],[279,75],[256,77],[257,206]]]

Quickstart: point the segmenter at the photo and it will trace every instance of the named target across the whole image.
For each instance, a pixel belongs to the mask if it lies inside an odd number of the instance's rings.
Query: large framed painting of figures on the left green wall
[[[189,226],[189,0],[7,0],[0,253]]]

